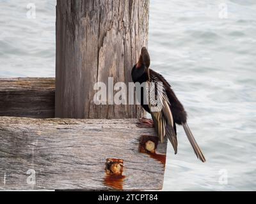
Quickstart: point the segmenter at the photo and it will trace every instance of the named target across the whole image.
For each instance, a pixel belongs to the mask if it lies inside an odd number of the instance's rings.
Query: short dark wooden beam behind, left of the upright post
[[[0,78],[0,116],[54,117],[54,78]]]

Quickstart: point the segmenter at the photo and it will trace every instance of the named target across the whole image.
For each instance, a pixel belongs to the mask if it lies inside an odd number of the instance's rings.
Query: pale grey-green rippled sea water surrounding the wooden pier
[[[152,69],[172,84],[207,158],[196,159],[179,127],[164,190],[256,190],[256,2],[150,4]],[[55,5],[0,0],[0,77],[54,77]]]

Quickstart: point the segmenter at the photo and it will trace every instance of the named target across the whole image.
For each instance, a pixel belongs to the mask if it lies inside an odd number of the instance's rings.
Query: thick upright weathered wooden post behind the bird
[[[140,106],[95,105],[93,85],[132,82],[147,47],[149,0],[58,0],[56,8],[56,117],[141,117]]]

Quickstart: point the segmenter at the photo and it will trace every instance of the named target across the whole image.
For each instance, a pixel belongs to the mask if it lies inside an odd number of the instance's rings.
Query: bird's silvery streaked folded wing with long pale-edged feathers
[[[177,154],[177,135],[175,133],[172,110],[168,100],[166,90],[163,87],[163,82],[156,75],[150,73],[149,96],[157,96],[156,98],[149,97],[149,108],[154,120],[155,128],[159,136],[160,142],[164,142],[164,136],[168,136],[172,143],[175,154]]]

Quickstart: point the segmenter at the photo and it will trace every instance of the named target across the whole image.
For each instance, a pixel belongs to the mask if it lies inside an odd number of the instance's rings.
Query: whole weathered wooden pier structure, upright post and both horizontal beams
[[[137,126],[141,107],[93,103],[95,83],[131,82],[149,0],[56,10],[56,79],[0,79],[0,190],[162,189],[167,142]]]

